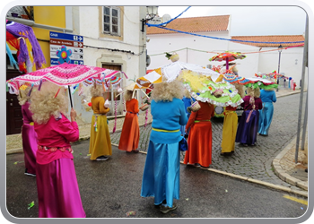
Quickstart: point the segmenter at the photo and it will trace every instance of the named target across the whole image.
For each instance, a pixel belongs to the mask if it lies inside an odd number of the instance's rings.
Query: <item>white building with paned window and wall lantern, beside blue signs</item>
[[[92,65],[123,71],[120,87],[126,87],[145,74],[146,69],[146,33],[141,31],[141,19],[145,18],[144,6],[73,6],[73,33],[83,36],[84,65]],[[88,94],[88,93],[86,93]],[[108,116],[114,116],[114,97],[117,88],[106,93],[111,104]],[[83,122],[89,123],[92,111],[86,110],[82,97],[74,94],[74,108]],[[118,104],[122,99],[119,96]],[[89,99],[87,99],[88,101]],[[123,115],[123,108],[118,108]]]

